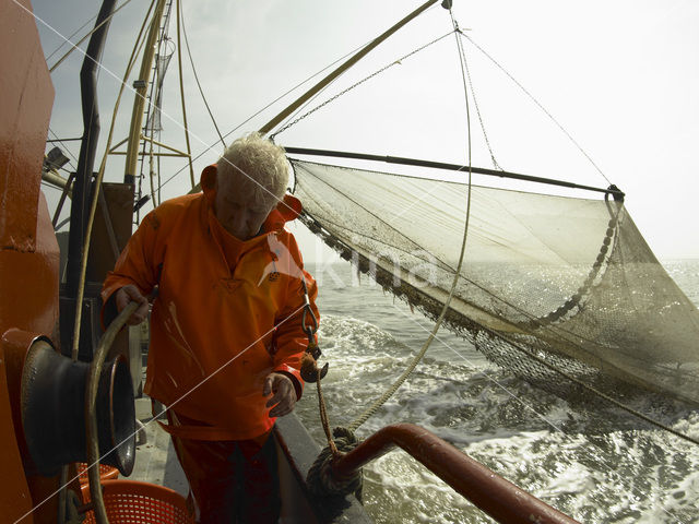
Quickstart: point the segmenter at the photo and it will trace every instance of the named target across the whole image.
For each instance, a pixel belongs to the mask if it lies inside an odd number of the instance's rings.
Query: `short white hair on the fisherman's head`
[[[218,184],[234,183],[236,192],[253,201],[282,200],[288,186],[284,148],[250,133],[230,144],[217,163]]]

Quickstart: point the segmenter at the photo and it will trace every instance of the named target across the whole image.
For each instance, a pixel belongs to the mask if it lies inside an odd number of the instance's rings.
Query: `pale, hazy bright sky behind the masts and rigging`
[[[199,81],[216,123],[227,133],[422,3],[183,0],[182,13]],[[110,26],[99,70],[98,159],[134,35],[149,4],[132,0]],[[45,55],[52,66],[69,48],[67,39],[76,41],[85,34],[85,28],[79,29],[96,15],[98,2],[38,0],[33,7]],[[455,0],[453,15],[461,29],[509,74],[471,40],[464,40],[477,110],[503,169],[595,187],[615,183],[626,192],[627,209],[661,260],[699,258],[699,213],[695,206],[699,195],[699,2]],[[315,105],[451,29],[449,13],[438,3],[333,83]],[[78,36],[71,37],[75,32]],[[174,20],[170,36],[176,37]],[[192,152],[194,156],[203,152],[194,163],[198,176],[216,160],[222,146],[183,44],[182,56]],[[82,134],[81,62],[82,55],[73,52],[51,74],[56,100],[50,129],[61,139]],[[594,165],[510,76],[546,108]],[[163,104],[161,141],[183,150],[175,61],[165,81],[170,90]],[[292,100],[288,96],[283,102]],[[470,100],[473,165],[491,168],[473,96]],[[132,102],[133,93],[127,90],[114,142],[126,136]],[[226,141],[259,129],[283,107],[277,103]],[[394,63],[275,140],[287,146],[465,164],[466,122],[457,44],[449,35]],[[64,142],[63,147],[78,155],[76,142]],[[181,167],[181,163],[164,163],[163,180]],[[121,181],[122,172],[123,156],[114,156],[106,179]],[[183,169],[165,183],[162,198],[177,196],[188,189],[189,176]],[[45,192],[49,203],[57,200],[56,190],[45,188]],[[300,228],[296,233],[307,261],[328,254],[312,242],[310,234]]]

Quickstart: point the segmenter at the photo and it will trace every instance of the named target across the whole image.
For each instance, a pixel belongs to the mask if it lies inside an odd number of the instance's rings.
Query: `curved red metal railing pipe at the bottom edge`
[[[405,450],[493,519],[507,524],[577,524],[450,443],[412,424],[387,426],[331,464],[337,479],[351,477],[393,446]]]

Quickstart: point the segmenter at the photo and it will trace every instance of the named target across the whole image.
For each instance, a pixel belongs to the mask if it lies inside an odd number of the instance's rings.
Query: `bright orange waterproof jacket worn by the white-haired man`
[[[284,229],[300,212],[298,200],[287,194],[268,216],[266,233],[240,241],[214,215],[211,174],[202,174],[203,193],[169,200],[143,219],[102,298],[106,305],[127,284],[146,296],[158,285],[145,393],[211,426],[214,436],[202,440],[247,440],[274,425],[262,395],[270,372],[293,377],[300,396],[308,345],[301,275],[316,318],[318,291]]]

